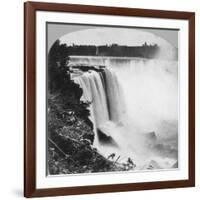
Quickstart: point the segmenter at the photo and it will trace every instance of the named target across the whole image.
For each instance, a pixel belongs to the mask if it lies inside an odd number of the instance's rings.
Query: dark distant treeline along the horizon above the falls
[[[72,45],[67,47],[68,55],[79,56],[116,56],[116,57],[142,57],[154,58],[159,52],[159,46],[147,45],[142,46],[125,46],[125,45]]]

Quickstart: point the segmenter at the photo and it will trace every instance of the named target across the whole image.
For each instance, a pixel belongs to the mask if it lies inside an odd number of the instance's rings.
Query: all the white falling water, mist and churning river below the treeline
[[[178,160],[178,67],[176,61],[142,58],[72,56],[70,64],[104,65],[73,79],[91,102],[94,146],[123,162],[131,157],[138,169],[171,168]],[[99,141],[97,129],[117,146]],[[155,164],[156,163],[156,164]]]

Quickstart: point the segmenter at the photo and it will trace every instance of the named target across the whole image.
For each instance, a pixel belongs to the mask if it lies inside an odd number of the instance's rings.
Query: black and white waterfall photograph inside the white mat
[[[46,24],[46,173],[179,168],[179,30]]]

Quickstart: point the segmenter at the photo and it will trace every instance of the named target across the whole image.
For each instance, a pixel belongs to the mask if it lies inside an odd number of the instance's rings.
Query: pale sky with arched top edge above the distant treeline
[[[82,45],[117,43],[119,45],[140,46],[147,42],[148,44],[178,47],[178,31],[169,29],[49,23],[47,31],[48,50],[57,39],[67,45],[73,43]]]

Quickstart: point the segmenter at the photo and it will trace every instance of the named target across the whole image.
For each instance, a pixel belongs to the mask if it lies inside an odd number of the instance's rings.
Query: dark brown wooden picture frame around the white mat
[[[75,12],[103,15],[183,19],[189,21],[189,179],[148,183],[128,183],[36,188],[36,11]],[[122,192],[195,185],[195,13],[74,4],[26,2],[24,4],[24,196],[42,197],[102,192]]]

